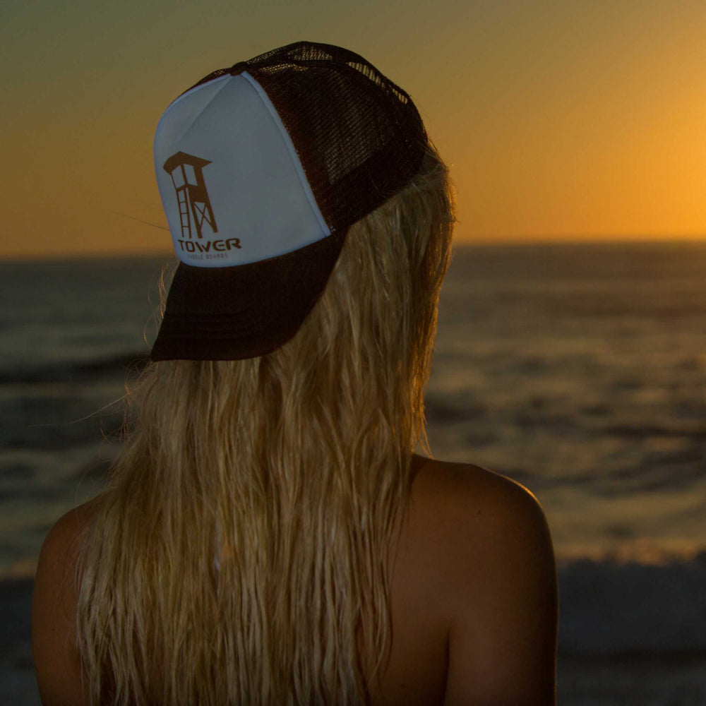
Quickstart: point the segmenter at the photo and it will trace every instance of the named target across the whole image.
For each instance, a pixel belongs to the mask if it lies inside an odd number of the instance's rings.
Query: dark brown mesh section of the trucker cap
[[[332,230],[375,210],[417,174],[426,147],[421,117],[362,56],[298,42],[258,59],[247,71],[275,104]]]

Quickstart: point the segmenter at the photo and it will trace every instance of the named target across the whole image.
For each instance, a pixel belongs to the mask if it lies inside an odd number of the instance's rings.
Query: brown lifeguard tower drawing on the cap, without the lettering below
[[[182,238],[191,239],[195,229],[196,236],[201,239],[203,237],[201,227],[204,221],[210,225],[214,233],[218,232],[201,171],[206,164],[210,163],[209,160],[187,155],[186,152],[177,152],[164,162],[164,171],[172,177],[174,191],[177,192]]]

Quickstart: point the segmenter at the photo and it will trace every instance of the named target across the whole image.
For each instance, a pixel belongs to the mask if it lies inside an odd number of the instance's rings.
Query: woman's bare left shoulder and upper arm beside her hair
[[[76,647],[76,574],[80,538],[97,500],[57,520],[42,544],[32,594],[32,655],[45,705],[80,704],[80,659]]]

